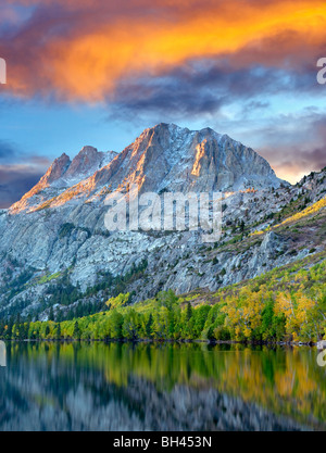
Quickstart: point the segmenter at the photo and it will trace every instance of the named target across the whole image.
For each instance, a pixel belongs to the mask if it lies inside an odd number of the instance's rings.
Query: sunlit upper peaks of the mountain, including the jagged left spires
[[[185,193],[231,191],[286,185],[265,159],[226,135],[210,128],[189,130],[159,124],[146,129],[120,154],[99,153],[91,147],[85,147],[73,162],[63,154],[10,212],[34,212],[45,202],[59,206],[76,199],[101,203],[109,188],[123,190],[128,184],[138,184],[140,193],[159,193],[164,189]],[[41,198],[35,197],[40,192]]]

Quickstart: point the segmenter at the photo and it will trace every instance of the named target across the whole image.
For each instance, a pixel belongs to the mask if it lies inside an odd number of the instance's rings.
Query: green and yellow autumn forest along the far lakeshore
[[[312,343],[326,336],[324,259],[316,254],[214,294],[168,290],[130,305],[130,294],[121,293],[100,313],[63,322],[17,315],[1,320],[0,338]]]

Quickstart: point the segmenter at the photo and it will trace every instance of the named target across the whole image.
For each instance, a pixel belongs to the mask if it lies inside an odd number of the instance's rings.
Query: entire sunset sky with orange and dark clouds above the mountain
[[[326,3],[0,0],[0,207],[63,152],[212,127],[294,184],[326,165]]]

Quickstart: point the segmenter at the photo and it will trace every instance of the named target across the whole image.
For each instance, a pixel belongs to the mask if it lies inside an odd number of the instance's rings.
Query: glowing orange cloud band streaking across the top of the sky
[[[33,1],[25,1],[29,3]],[[145,3],[140,2],[142,7]],[[301,48],[305,59],[310,54],[313,59],[316,48],[326,42],[324,1],[276,0],[264,5],[252,0],[230,0],[224,4],[208,1],[200,9],[198,1],[184,0],[177,10],[173,3],[160,0],[152,5],[164,5],[165,13],[171,8],[171,16],[108,15],[108,21],[101,17],[98,27],[93,15],[80,15],[75,24],[79,26],[62,38],[45,39],[42,46],[42,36],[32,34],[36,41],[36,50],[30,51],[34,61],[22,65],[15,60],[9,89],[23,95],[54,90],[63,99],[98,102],[114,96],[122,80],[158,76],[188,60],[237,54],[239,60],[235,64],[281,66],[286,56],[302,59]],[[72,9],[76,2],[70,0],[66,4]],[[92,4],[92,13],[98,8],[101,16],[99,2],[83,0],[82,4]],[[20,37],[13,50],[24,45],[23,39],[24,36]]]

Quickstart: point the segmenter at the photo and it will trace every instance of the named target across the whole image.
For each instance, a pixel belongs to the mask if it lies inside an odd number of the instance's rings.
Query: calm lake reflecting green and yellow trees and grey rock
[[[326,368],[316,349],[5,347],[0,431],[326,429]]]

